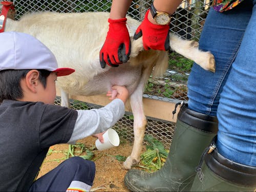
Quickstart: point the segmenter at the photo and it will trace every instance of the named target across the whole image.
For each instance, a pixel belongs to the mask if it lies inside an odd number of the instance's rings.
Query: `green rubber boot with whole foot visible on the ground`
[[[164,166],[155,173],[129,170],[124,183],[132,191],[181,191],[193,184],[196,167],[205,148],[218,131],[216,117],[181,106],[170,152]]]

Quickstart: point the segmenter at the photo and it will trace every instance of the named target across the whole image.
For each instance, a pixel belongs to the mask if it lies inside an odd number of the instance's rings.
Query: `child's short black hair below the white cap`
[[[0,102],[4,99],[17,100],[23,98],[20,80],[26,77],[30,69],[26,70],[3,70],[0,71]],[[51,74],[47,70],[37,70],[39,81],[46,88],[46,79]]]

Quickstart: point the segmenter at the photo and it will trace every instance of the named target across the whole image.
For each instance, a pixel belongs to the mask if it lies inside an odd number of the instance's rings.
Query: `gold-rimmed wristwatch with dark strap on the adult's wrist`
[[[153,19],[156,21],[158,25],[167,25],[170,23],[170,19],[172,18],[172,16],[165,12],[158,12],[153,2],[151,4],[150,11],[153,16]]]

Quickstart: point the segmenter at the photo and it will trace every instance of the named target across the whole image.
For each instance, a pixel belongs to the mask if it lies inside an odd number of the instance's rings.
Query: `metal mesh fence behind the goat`
[[[211,0],[188,0],[183,1],[176,12],[173,14],[170,31],[176,33],[185,39],[198,40],[202,31],[204,21],[211,4]],[[1,0],[0,0],[1,2]],[[96,12],[110,11],[112,0],[102,1],[35,1],[35,0],[14,0],[16,8],[15,19],[19,19],[28,12],[36,11],[56,11],[62,13],[69,12]],[[152,1],[134,0],[128,11],[128,15],[142,20],[146,10],[150,7]],[[163,77],[149,79],[144,91],[144,97],[164,100],[169,102],[187,101],[187,78],[193,61],[183,56],[170,52],[169,68]],[[60,104],[60,97],[56,98],[55,104]],[[93,109],[101,106],[85,103],[82,101],[71,100],[73,109]],[[175,123],[147,117],[146,134],[154,136],[163,142],[165,147],[169,147],[174,132]],[[125,116],[119,120],[113,127],[119,135],[127,140],[133,140],[133,116],[131,113],[125,113]]]

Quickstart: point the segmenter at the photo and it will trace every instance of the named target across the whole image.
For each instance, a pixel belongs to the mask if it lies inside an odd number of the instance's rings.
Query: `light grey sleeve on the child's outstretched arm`
[[[121,99],[114,99],[103,108],[77,112],[75,127],[68,143],[108,130],[123,117],[124,103]]]

